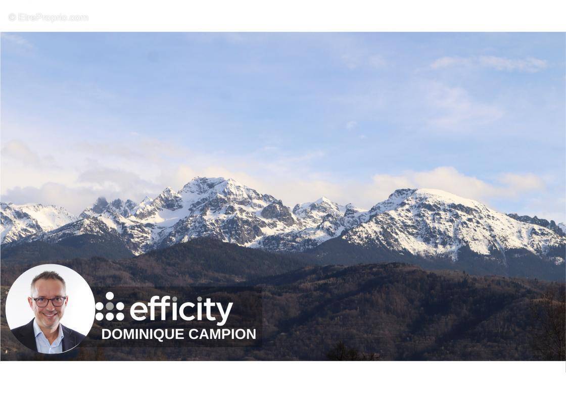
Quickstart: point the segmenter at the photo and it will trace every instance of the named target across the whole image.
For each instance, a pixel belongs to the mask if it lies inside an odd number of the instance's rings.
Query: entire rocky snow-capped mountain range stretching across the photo
[[[566,244],[564,225],[550,223],[431,189],[397,190],[367,211],[325,197],[290,209],[233,179],[198,177],[139,204],[101,197],[79,217],[53,206],[2,203],[1,229],[2,243],[14,244],[112,235],[135,255],[198,237],[286,252],[341,238],[356,246],[454,261],[468,247],[484,256],[526,250],[563,264],[556,251]]]

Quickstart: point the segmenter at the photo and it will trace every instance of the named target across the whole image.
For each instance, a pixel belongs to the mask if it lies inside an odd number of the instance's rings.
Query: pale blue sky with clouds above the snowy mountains
[[[565,220],[563,33],[3,33],[1,199],[191,178],[294,205],[440,188]]]

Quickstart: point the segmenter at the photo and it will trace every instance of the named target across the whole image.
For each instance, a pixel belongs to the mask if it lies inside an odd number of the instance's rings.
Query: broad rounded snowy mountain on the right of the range
[[[481,255],[515,249],[544,255],[565,241],[545,227],[514,220],[478,201],[428,188],[393,192],[345,239],[453,260],[464,246]]]

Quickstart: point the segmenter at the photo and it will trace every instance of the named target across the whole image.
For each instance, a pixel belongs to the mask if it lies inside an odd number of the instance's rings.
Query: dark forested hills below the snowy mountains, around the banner
[[[93,286],[263,290],[259,348],[80,347],[68,359],[564,360],[564,283],[559,282],[395,262],[320,266],[301,256],[207,239],[130,259],[58,263]],[[28,268],[2,261],[2,285],[11,285]],[[2,307],[6,292],[3,286]],[[14,341],[3,311],[2,359],[35,359]]]

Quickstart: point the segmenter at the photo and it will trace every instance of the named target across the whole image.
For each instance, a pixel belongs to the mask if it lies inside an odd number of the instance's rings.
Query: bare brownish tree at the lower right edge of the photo
[[[549,288],[541,298],[531,302],[533,338],[531,345],[544,360],[566,359],[566,289],[564,285]]]

